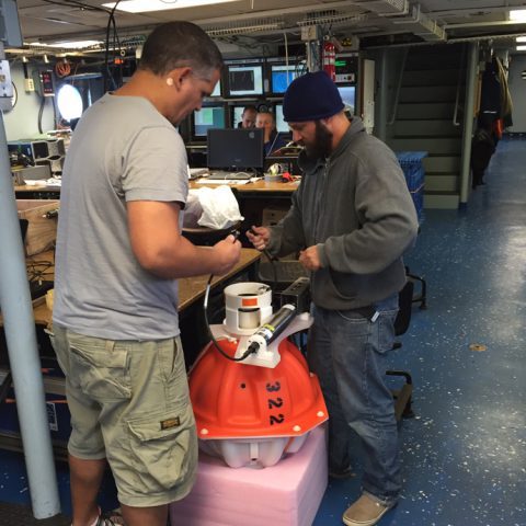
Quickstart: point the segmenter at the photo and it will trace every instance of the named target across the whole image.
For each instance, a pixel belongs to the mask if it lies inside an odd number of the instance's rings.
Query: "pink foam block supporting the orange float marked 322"
[[[172,526],[309,526],[327,488],[325,431],[264,469],[227,467],[201,455],[190,495],[170,505]]]

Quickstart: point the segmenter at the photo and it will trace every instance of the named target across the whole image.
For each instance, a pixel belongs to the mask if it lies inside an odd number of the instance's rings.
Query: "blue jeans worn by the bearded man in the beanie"
[[[368,318],[353,310],[313,307],[308,361],[329,410],[329,467],[348,466],[354,431],[365,451],[363,490],[393,504],[401,489],[400,458],[385,358],[395,340],[398,295],[375,307],[379,316]]]

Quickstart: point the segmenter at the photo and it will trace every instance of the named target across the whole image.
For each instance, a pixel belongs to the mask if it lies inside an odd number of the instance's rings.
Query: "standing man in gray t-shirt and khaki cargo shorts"
[[[129,525],[164,526],[195,478],[176,278],[227,273],[240,243],[199,248],[181,236],[187,161],[173,125],[201,108],[221,66],[196,25],[159,26],[136,73],[84,113],[68,150],[53,341],[71,412],[76,525],[106,524],[96,505],[106,460]]]

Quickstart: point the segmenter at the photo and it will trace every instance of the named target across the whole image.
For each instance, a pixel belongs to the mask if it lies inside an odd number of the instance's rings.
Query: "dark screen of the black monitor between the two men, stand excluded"
[[[222,170],[262,170],[263,130],[225,128],[209,129],[208,168]]]

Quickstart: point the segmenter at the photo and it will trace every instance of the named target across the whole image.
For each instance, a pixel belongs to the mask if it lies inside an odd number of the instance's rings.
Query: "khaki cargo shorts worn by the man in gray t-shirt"
[[[128,506],[183,499],[197,467],[197,437],[181,339],[111,341],[54,327],[71,413],[69,453],[107,458]]]

